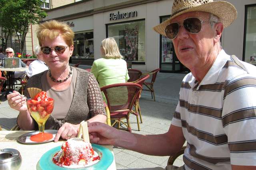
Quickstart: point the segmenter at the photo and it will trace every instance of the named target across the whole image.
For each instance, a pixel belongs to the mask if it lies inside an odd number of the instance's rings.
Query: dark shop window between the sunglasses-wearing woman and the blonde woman
[[[94,59],[93,32],[75,33],[72,59]]]

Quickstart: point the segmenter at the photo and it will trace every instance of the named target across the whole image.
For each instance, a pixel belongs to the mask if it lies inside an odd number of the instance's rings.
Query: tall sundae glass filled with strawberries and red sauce
[[[32,97],[32,95],[30,95]],[[30,137],[31,141],[43,142],[52,139],[51,133],[44,132],[44,124],[52,113],[54,100],[46,92],[37,93],[33,99],[27,101],[28,111],[38,124],[39,133]]]

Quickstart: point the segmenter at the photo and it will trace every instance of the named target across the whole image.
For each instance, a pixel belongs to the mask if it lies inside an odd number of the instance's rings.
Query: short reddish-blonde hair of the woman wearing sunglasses
[[[61,35],[69,47],[74,45],[74,32],[72,29],[66,23],[62,23],[56,20],[50,20],[41,23],[38,26],[36,35],[40,46],[42,46],[42,43],[45,40],[52,41],[59,35]]]

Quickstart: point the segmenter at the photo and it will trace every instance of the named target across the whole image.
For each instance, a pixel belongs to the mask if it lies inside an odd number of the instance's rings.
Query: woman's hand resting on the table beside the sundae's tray
[[[60,129],[58,130],[58,133],[56,134],[54,142],[58,142],[60,137],[66,140],[72,137],[77,137],[79,126],[80,124],[73,125],[71,123],[64,123],[64,125],[62,125],[62,127],[60,127]]]

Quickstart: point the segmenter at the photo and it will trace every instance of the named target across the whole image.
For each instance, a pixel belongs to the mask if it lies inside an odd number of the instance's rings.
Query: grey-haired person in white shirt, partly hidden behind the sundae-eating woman
[[[34,53],[36,54],[37,60],[30,63],[28,66],[27,76],[29,78],[35,74],[38,74],[49,69],[48,66],[44,63],[43,55],[39,45],[37,45],[34,49]]]

